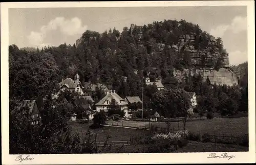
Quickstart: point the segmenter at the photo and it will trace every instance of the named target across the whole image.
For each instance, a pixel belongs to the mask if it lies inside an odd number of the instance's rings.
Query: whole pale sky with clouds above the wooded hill
[[[229,63],[247,61],[247,7],[101,7],[101,8],[11,8],[9,44],[19,48],[73,44],[86,30],[120,32],[131,23],[147,25],[164,19],[184,19],[203,31],[221,37]]]

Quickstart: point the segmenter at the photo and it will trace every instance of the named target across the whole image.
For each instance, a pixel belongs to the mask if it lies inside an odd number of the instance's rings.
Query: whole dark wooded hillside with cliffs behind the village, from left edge
[[[73,79],[76,72],[82,83],[103,83],[122,96],[139,96],[141,79],[146,76],[151,81],[161,79],[164,86],[199,74],[204,81],[209,77],[212,84],[237,83],[221,38],[185,20],[131,25],[122,32],[115,28],[102,34],[88,30],[77,45],[64,43],[41,51],[11,45],[9,70],[10,96],[27,98],[38,95],[36,91],[43,95],[61,79]],[[122,77],[127,77],[127,82]],[[15,90],[20,86],[31,91]]]

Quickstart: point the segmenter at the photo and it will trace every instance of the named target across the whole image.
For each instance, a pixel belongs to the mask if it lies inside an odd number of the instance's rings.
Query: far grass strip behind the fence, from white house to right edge
[[[120,126],[149,126],[149,122],[135,122],[135,121],[123,121],[123,122],[106,122],[108,124],[120,125]],[[164,122],[151,123],[159,128],[166,128]],[[171,122],[170,128],[178,130],[178,122]],[[183,123],[180,122],[180,129],[183,129]],[[248,117],[239,118],[214,118],[212,120],[199,120],[186,122],[186,129],[191,132],[197,133],[209,133],[211,135],[226,135],[226,136],[240,136],[248,133]]]

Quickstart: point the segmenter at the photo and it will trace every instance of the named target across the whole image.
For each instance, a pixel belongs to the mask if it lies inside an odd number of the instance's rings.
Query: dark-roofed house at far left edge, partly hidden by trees
[[[21,109],[23,107],[29,108],[30,117],[29,120],[31,121],[32,125],[37,125],[41,122],[41,116],[39,112],[39,107],[37,105],[36,100],[23,100],[23,101],[12,101],[11,103],[17,103],[17,106],[14,108],[14,110]]]

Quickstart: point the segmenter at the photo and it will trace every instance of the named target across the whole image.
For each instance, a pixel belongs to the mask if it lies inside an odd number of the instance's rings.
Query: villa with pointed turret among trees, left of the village
[[[82,86],[79,79],[80,79],[79,75],[76,74],[74,77],[74,80],[72,80],[71,78],[62,80],[59,83],[60,90],[57,93],[52,95],[52,99],[57,99],[60,91],[63,91],[63,90],[75,91],[78,93],[78,95],[84,95],[83,94],[84,87]]]

